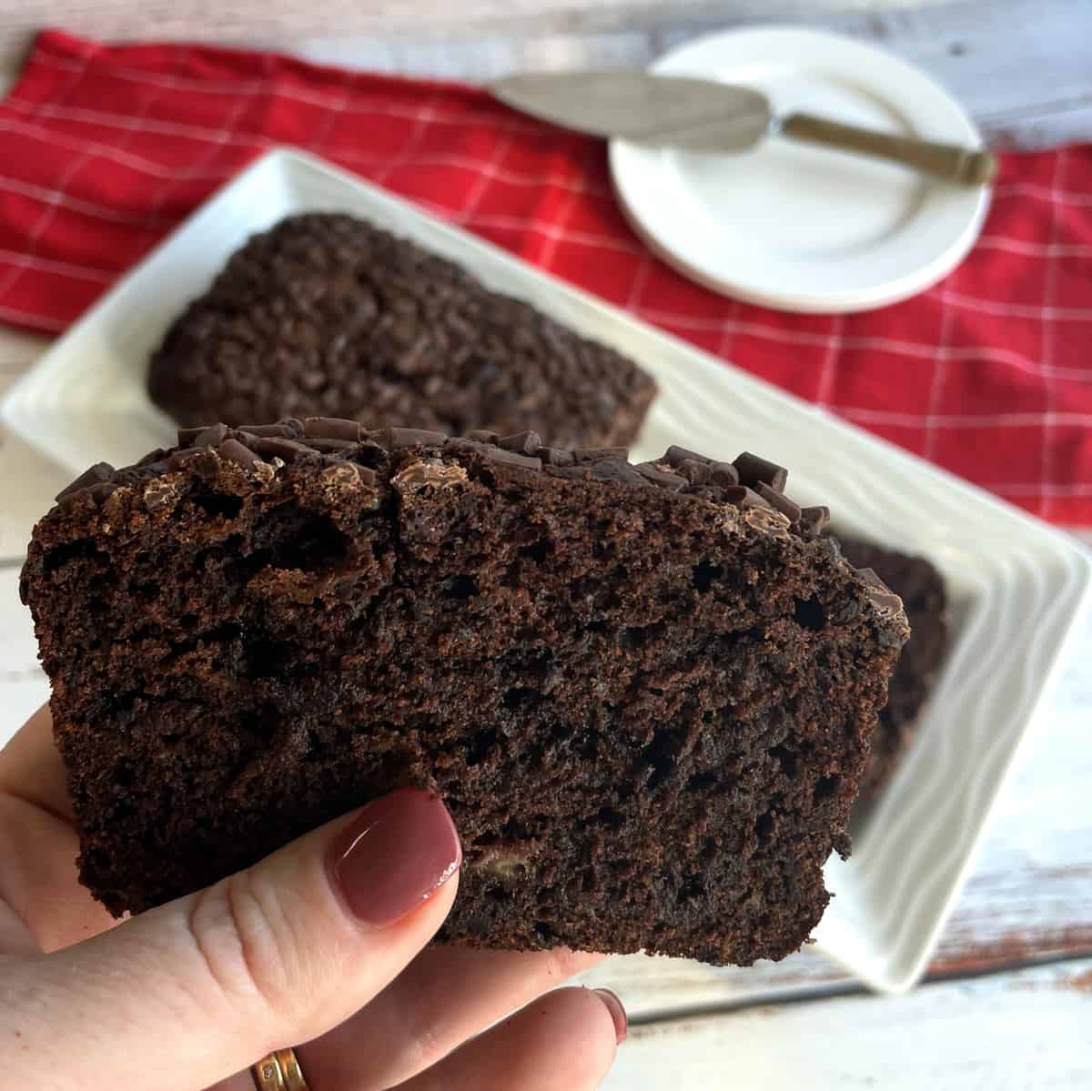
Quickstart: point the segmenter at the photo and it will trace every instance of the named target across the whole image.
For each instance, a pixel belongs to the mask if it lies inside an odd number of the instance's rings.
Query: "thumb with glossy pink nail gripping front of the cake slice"
[[[193,1091],[324,1033],[428,942],[460,861],[443,804],[404,788],[206,890],[9,964],[0,1024],[15,1021],[22,1086]]]

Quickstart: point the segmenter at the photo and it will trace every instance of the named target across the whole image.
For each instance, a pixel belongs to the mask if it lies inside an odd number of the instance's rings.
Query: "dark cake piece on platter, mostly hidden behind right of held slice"
[[[868,799],[899,767],[948,652],[948,594],[943,577],[925,557],[841,534],[838,541],[851,565],[871,569],[902,598],[910,624],[910,640],[888,684],[888,702],[880,712],[873,756],[860,780],[860,797]]]

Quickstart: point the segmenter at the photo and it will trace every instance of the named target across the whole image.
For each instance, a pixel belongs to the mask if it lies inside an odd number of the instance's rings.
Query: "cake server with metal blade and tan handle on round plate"
[[[490,91],[525,114],[594,137],[690,152],[741,152],[770,137],[890,159],[961,186],[984,186],[988,152],[846,124],[815,114],[778,116],[752,87],[651,72],[530,72]]]

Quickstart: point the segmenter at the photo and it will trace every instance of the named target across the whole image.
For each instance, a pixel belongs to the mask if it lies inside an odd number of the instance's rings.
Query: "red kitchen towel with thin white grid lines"
[[[1008,155],[974,252],[864,315],[652,258],[602,142],[466,86],[47,32],[0,103],[0,320],[64,329],[261,151],[296,144],[1059,523],[1092,524],[1092,145]]]

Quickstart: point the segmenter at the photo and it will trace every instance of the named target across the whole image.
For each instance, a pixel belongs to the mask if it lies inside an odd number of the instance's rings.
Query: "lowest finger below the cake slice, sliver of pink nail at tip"
[[[559,988],[397,1091],[590,1091],[625,1036],[626,1012],[613,993]]]

